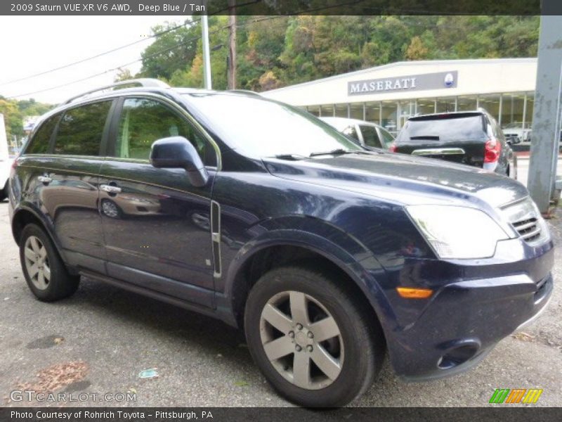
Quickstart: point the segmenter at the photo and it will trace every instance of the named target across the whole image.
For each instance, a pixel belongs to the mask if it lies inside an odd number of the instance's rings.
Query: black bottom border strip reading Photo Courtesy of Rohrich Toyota
[[[211,400],[213,397],[209,397]],[[516,405],[514,405],[516,406]],[[562,419],[560,407],[355,407],[312,410],[299,407],[12,407],[0,408],[0,421],[10,422],[160,422],[160,421],[432,421],[550,422]],[[13,412],[18,412],[14,416]],[[86,417],[86,412],[89,412]],[[119,412],[122,412],[119,414]],[[159,413],[158,413],[159,412]],[[166,413],[164,413],[166,412]],[[175,412],[175,413],[174,413]],[[193,412],[193,413],[192,413]],[[126,413],[126,415],[125,415]],[[27,414],[28,416],[22,416]],[[60,414],[60,416],[53,416]],[[70,414],[70,418],[68,415]],[[29,417],[30,415],[30,417]],[[67,416],[63,416],[67,415]],[[91,416],[94,415],[94,416]],[[98,416],[96,416],[98,415]],[[197,418],[188,418],[195,415]],[[209,417],[209,415],[212,416]]]

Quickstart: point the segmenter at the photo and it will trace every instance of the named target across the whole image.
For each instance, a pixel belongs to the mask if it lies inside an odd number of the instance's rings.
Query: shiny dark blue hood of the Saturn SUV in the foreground
[[[264,159],[277,177],[366,193],[404,205],[477,198],[500,207],[528,196],[518,181],[467,165],[396,153]]]

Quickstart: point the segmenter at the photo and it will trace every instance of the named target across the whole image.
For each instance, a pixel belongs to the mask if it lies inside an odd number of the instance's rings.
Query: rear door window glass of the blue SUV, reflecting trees
[[[55,154],[99,155],[111,101],[67,110],[58,124]]]

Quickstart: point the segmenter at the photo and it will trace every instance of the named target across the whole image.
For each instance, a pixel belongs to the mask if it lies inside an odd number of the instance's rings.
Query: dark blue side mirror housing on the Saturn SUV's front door
[[[197,188],[209,181],[209,172],[195,147],[183,136],[170,136],[152,143],[150,164],[159,169],[184,169],[190,183]]]

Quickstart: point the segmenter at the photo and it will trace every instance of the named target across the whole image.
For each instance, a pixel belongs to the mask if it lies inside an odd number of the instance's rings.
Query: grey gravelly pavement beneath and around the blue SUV
[[[549,224],[560,244],[560,219]],[[556,250],[556,281],[561,279],[560,254]],[[136,402],[72,405],[291,405],[261,376],[240,333],[219,321],[89,279],[82,279],[67,300],[35,300],[20,269],[6,201],[0,203],[0,257],[0,399],[5,406],[39,404],[10,400],[10,392],[22,385],[60,386],[56,392],[74,392],[75,397],[80,392],[136,392]],[[542,388],[536,405],[559,406],[561,296],[556,283],[554,298],[540,319],[502,340],[475,369],[441,381],[403,383],[387,360],[379,381],[352,405],[480,407],[488,405],[495,388]],[[49,369],[53,365],[60,366]],[[138,378],[140,371],[152,368],[157,378]]]

